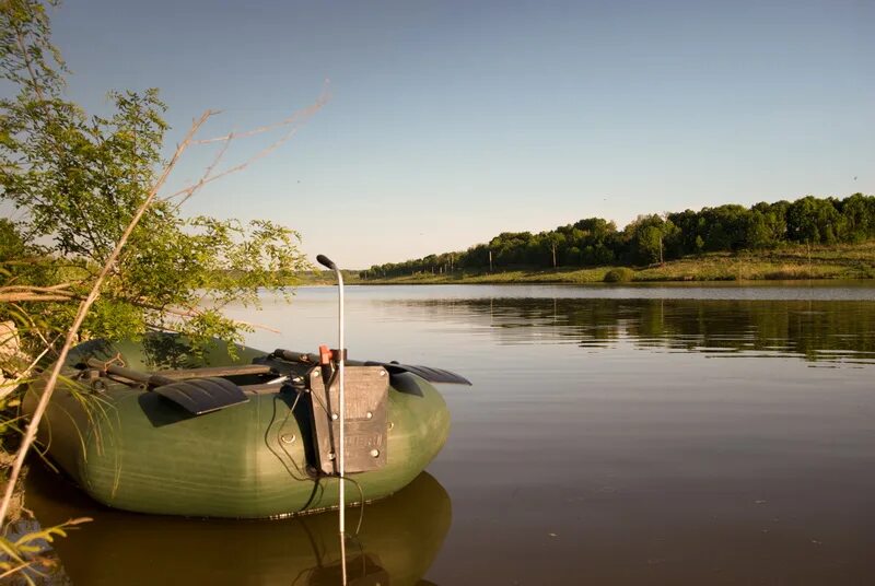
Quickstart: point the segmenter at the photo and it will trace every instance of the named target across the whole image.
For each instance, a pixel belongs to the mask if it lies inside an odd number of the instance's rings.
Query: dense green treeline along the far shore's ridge
[[[860,243],[875,238],[875,197],[807,196],[761,202],[639,215],[622,231],[614,222],[587,218],[556,230],[504,232],[465,251],[374,265],[368,278],[417,272],[487,271],[518,268],[641,266],[713,251],[769,249],[788,243]]]

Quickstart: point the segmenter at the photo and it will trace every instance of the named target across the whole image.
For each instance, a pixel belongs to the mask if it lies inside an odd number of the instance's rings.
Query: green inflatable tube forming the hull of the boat
[[[71,351],[40,423],[51,458],[93,499],[141,513],[262,518],[337,506],[336,477],[317,472],[310,397],[277,384],[246,391],[248,401],[201,415],[148,385],[88,382],[89,359],[154,373],[167,368],[248,364],[265,352],[221,342],[202,354],[180,353],[180,339],[92,341]],[[275,390],[276,389],[276,390]],[[25,399],[33,411],[39,383]],[[413,374],[392,377],[387,397],[385,465],[348,474],[349,504],[387,496],[419,474],[446,441],[450,413],[441,395]]]

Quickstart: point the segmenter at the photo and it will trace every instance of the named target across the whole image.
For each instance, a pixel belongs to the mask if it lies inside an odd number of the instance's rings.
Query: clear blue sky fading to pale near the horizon
[[[277,220],[346,267],[586,216],[875,194],[871,0],[69,0],[52,23],[70,96],[160,87],[171,142],[206,108],[224,110],[214,132],[277,120],[330,79],[291,142],[186,210]]]

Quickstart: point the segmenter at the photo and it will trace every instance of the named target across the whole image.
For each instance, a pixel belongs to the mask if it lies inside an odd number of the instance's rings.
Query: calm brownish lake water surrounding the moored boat
[[[444,450],[364,508],[360,584],[875,584],[875,286],[355,286],[352,359],[459,372]],[[234,315],[336,343],[336,289]],[[32,474],[73,584],[337,584],[336,514],[102,509]],[[353,509],[350,509],[351,512]],[[350,513],[358,523],[359,512]]]

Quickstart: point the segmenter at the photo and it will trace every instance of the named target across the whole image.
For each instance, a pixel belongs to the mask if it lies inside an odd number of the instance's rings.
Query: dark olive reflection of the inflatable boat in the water
[[[38,464],[26,499],[43,527],[94,518],[52,543],[73,584],[340,584],[335,515],[249,521],[137,515],[100,506]],[[423,472],[361,511],[361,530],[347,542],[349,584],[417,584],[452,521],[443,487]],[[348,515],[354,528],[359,511]]]

